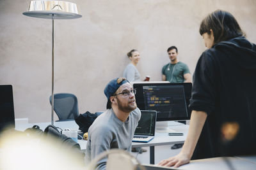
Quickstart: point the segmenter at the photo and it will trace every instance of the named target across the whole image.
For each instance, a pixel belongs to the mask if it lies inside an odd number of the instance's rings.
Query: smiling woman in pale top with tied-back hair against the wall
[[[140,73],[136,68],[140,60],[140,53],[138,52],[138,50],[133,49],[129,53],[127,53],[127,56],[131,60],[131,63],[125,67],[123,76],[130,82],[141,81]]]

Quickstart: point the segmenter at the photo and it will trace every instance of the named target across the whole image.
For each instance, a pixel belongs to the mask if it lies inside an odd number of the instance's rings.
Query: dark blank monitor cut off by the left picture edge
[[[12,85],[0,85],[0,132],[15,128]]]

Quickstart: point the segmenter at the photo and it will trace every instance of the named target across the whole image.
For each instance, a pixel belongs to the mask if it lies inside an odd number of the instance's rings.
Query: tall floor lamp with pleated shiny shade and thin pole
[[[47,18],[52,20],[52,117],[54,124],[54,20],[80,18],[77,6],[67,1],[30,1],[28,11],[23,15],[36,18]]]

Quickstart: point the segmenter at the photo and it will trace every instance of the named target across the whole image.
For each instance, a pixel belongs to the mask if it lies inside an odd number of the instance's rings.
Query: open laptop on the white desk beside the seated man
[[[155,136],[156,131],[156,111],[141,110],[141,118],[136,127],[133,142],[147,143]]]

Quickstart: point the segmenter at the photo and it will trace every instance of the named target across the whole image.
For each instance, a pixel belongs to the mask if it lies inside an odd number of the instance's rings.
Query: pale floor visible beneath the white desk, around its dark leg
[[[166,159],[168,157],[172,157],[174,155],[177,155],[181,148],[172,150],[171,147],[173,145],[163,145],[163,146],[155,146],[155,164],[160,162],[163,159]],[[132,152],[132,155],[136,157],[140,161],[141,164],[149,164],[149,147],[143,147],[147,150],[147,152],[139,153],[138,152]]]

